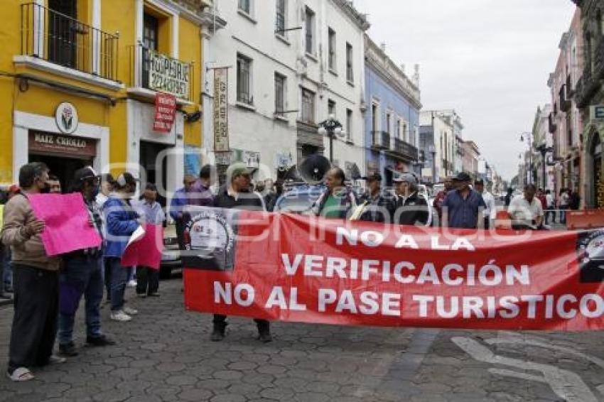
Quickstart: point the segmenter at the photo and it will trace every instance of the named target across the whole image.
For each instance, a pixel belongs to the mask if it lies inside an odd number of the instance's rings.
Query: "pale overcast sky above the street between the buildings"
[[[354,0],[370,36],[407,75],[420,65],[424,110],[455,109],[464,139],[509,180],[575,9],[570,0]],[[526,145],[524,145],[526,149]]]

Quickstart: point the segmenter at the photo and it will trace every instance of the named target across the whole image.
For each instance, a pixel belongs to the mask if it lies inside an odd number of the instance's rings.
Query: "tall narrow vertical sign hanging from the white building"
[[[229,70],[214,70],[214,151],[229,151]]]

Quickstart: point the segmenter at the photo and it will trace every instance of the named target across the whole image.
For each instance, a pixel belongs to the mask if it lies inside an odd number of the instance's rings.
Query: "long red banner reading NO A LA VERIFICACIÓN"
[[[604,231],[403,227],[200,209],[190,310],[340,325],[601,330]]]

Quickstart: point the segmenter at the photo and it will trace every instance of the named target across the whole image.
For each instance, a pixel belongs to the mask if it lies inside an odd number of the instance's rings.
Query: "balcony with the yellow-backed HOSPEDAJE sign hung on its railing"
[[[194,102],[193,63],[171,58],[146,48],[131,46],[129,92],[142,97],[155,97],[156,92],[173,94],[179,103]]]

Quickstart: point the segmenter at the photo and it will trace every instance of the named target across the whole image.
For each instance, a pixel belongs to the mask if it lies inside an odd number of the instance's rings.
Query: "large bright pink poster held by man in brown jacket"
[[[98,247],[102,239],[90,226],[90,214],[80,193],[28,195],[33,214],[46,224],[42,243],[48,256]]]

